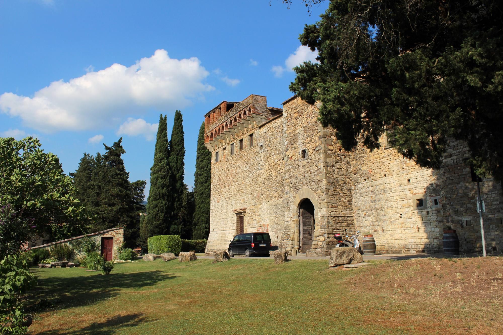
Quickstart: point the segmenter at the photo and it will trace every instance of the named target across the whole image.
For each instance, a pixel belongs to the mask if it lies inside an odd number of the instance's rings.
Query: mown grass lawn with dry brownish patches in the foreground
[[[117,264],[36,269],[30,330],[46,334],[503,333],[503,258]]]

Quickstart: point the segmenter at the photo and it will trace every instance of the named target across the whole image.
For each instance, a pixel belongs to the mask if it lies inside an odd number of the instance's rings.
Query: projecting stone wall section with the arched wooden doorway
[[[323,129],[314,106],[296,97],[284,104],[283,116],[287,229],[281,246],[299,249],[298,209],[307,198],[315,208],[308,254],[328,255],[333,233],[353,230],[349,154],[338,150],[333,131]]]

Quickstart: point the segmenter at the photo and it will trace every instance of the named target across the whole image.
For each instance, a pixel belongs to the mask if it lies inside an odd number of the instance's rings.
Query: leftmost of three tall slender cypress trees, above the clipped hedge
[[[150,169],[150,191],[147,200],[147,215],[142,223],[141,239],[146,243],[150,236],[167,234],[170,231],[173,193],[171,190],[170,149],[167,141],[167,117],[160,115],[155,142],[154,162]]]

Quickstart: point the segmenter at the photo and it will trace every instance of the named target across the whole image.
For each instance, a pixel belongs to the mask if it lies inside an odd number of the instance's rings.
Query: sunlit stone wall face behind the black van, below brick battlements
[[[211,217],[206,253],[226,250],[235,235],[235,210],[245,209],[244,232],[269,232],[277,245],[284,225],[281,117],[241,131],[212,151]],[[254,134],[249,145],[248,135]],[[239,150],[239,140],[243,150]],[[235,153],[230,154],[230,144]],[[219,161],[215,153],[219,152]]]

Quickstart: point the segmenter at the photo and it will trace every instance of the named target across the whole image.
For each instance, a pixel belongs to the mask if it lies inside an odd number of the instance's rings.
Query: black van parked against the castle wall
[[[250,255],[268,255],[272,250],[271,236],[265,232],[244,233],[234,236],[229,244],[229,256],[244,254]]]

